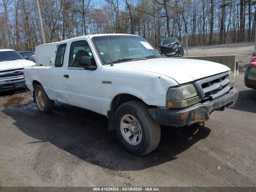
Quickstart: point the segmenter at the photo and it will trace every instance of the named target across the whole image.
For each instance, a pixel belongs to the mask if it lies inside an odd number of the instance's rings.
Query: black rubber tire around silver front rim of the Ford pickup
[[[129,144],[121,131],[121,120],[124,116],[130,114],[138,120],[142,130],[142,138],[137,145]],[[129,101],[119,106],[115,114],[116,135],[122,146],[130,153],[136,155],[145,155],[155,150],[160,142],[160,125],[154,122],[148,113],[148,106],[140,101]],[[132,136],[133,137],[133,136]]]

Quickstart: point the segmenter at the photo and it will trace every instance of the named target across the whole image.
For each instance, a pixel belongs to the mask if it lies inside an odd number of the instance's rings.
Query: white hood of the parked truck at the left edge
[[[13,61],[1,61],[0,62],[0,71],[16,69],[16,68],[24,68],[28,66],[36,65],[34,62],[26,59],[13,60]]]

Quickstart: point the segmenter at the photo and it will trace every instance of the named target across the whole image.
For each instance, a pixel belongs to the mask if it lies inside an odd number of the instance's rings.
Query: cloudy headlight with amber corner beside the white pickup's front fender
[[[200,102],[196,88],[191,83],[170,88],[167,99],[167,106],[170,108],[181,108]]]

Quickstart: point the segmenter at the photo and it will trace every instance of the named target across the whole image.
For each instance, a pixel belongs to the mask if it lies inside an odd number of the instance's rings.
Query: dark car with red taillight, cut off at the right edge
[[[250,64],[244,74],[244,84],[248,88],[256,89],[256,50],[253,52]]]

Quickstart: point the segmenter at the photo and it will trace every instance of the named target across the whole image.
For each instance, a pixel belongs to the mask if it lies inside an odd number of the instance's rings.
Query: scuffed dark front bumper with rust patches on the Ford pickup
[[[238,98],[238,90],[233,88],[227,94],[211,101],[197,103],[186,108],[179,109],[157,109],[150,108],[148,112],[152,119],[162,125],[184,126],[197,122],[204,122],[209,119],[211,112],[222,110],[225,106],[234,106]]]

